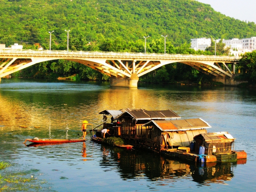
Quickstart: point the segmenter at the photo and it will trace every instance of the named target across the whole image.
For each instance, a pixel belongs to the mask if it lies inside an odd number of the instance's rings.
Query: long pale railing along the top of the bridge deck
[[[44,55],[44,56],[96,56],[96,57],[121,57],[121,58],[161,58],[161,59],[199,59],[199,60],[239,60],[237,56],[215,56],[215,55],[184,55],[184,54],[162,54],[162,53],[130,53],[130,52],[86,52],[86,51],[49,51],[49,50],[15,50],[3,49],[0,54],[10,55]]]

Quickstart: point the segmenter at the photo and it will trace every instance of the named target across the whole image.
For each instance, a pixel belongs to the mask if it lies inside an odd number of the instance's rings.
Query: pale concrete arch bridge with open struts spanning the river
[[[111,86],[137,87],[139,77],[163,65],[180,62],[204,74],[232,79],[239,57],[128,52],[83,52],[49,50],[0,50],[0,78],[49,60],[69,60],[84,64],[110,77]],[[232,64],[232,69],[228,68]]]

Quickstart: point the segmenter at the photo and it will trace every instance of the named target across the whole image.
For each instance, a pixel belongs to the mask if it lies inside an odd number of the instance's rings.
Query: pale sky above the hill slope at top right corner
[[[239,20],[256,23],[256,0],[197,0],[210,4],[212,8],[222,14]]]

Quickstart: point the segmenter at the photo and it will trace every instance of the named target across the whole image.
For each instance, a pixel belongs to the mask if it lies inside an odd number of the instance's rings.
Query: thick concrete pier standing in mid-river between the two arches
[[[131,77],[110,77],[110,86],[113,87],[137,87],[139,77],[132,74]]]

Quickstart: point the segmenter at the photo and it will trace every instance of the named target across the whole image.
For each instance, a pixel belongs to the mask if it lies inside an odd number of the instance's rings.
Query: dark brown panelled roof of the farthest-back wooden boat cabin
[[[175,112],[172,110],[155,110],[155,111],[148,111],[145,109],[125,109],[124,113],[117,116],[117,118],[121,118],[125,115],[130,115],[136,120],[151,120],[151,119],[173,119],[173,118],[180,118]]]

